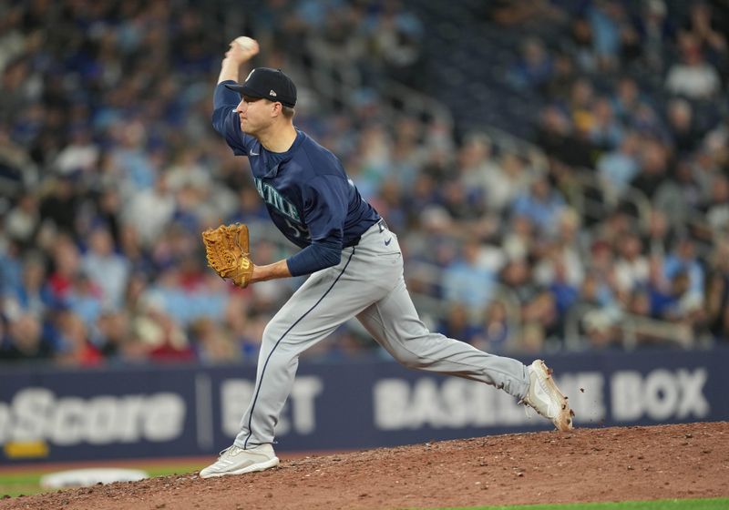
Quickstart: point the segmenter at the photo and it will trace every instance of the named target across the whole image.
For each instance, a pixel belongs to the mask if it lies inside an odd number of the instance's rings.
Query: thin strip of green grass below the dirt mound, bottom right
[[[469,506],[440,510],[727,510],[729,498],[660,499],[620,503],[574,503],[570,505]]]

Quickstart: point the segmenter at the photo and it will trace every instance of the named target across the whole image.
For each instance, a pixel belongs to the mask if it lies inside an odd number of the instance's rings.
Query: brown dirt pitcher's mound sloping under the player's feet
[[[499,435],[0,501],[0,509],[433,508],[729,495],[729,423]]]

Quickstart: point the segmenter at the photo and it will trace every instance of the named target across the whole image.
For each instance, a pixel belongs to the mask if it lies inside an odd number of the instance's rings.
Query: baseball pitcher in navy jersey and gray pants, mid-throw
[[[249,159],[252,179],[275,226],[302,250],[256,265],[244,225],[203,232],[210,267],[234,284],[310,275],[263,331],[252,401],[241,430],[202,478],[262,471],[279,464],[272,443],[299,355],[356,317],[408,368],[484,382],[572,428],[570,406],[544,362],[529,366],[428,331],[403,278],[395,232],[362,199],[341,162],[293,124],[296,87],[280,69],[258,67],[242,84],[241,66],[259,51],[233,41],[221,65],[212,123],[233,153]]]

